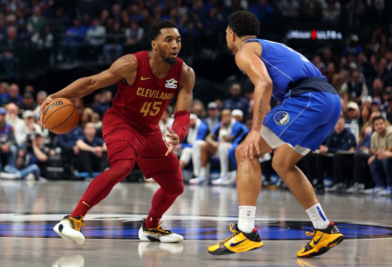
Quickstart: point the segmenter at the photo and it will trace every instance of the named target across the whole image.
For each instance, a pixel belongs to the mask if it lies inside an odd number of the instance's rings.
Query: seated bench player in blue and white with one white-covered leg
[[[196,178],[190,179],[189,182],[192,184],[208,182],[210,171],[209,171],[209,158],[215,155],[219,157],[221,164],[221,173],[219,175],[220,181],[227,180],[229,170],[229,149],[233,147],[233,143],[237,141],[237,138],[241,138],[244,134],[244,124],[236,121],[231,116],[231,112],[228,109],[222,110],[221,122],[210,132],[205,141],[200,147],[201,154],[201,168],[200,175]],[[245,126],[246,128],[246,126]],[[247,130],[247,129],[246,129]]]

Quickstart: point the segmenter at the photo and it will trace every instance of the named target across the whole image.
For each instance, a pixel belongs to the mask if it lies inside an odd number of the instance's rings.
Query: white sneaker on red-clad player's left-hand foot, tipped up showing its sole
[[[80,228],[82,225],[86,226],[83,223],[83,218],[84,217],[73,218],[67,215],[53,227],[53,230],[60,237],[64,239],[71,239],[76,244],[81,245],[84,243],[84,236]]]

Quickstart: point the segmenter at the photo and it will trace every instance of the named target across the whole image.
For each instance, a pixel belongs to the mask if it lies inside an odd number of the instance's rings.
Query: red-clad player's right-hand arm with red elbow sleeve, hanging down
[[[181,69],[181,85],[178,91],[177,102],[175,104],[175,117],[172,125],[172,129],[166,126],[169,131],[166,134],[171,140],[169,143],[169,149],[166,152],[166,156],[172,151],[172,149],[178,146],[189,130],[189,111],[191,110],[193,101],[193,87],[195,86],[195,72],[187,66],[185,63],[182,64]]]

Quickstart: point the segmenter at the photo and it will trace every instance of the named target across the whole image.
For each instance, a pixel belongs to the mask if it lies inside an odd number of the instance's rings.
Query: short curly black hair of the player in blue
[[[259,35],[260,23],[256,16],[248,11],[237,11],[228,18],[229,27],[238,37]]]

